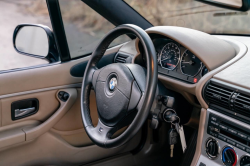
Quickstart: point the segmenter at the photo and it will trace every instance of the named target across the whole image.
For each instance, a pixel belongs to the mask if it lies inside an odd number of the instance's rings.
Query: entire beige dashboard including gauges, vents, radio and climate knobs
[[[158,79],[202,108],[192,165],[249,165],[249,38],[167,26],[146,32],[155,46]],[[139,41],[129,44],[122,51],[134,57],[141,55],[145,61]]]

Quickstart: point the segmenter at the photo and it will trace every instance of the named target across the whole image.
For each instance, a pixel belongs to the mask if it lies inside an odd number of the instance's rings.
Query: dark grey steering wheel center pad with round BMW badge
[[[98,76],[97,76],[98,75]],[[134,77],[124,64],[111,64],[94,73],[99,118],[115,126],[128,112]]]

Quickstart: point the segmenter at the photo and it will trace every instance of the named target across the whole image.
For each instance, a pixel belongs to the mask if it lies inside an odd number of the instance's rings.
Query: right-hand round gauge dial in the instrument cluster
[[[194,77],[202,67],[202,62],[189,50],[186,50],[181,58],[181,71],[183,74]]]

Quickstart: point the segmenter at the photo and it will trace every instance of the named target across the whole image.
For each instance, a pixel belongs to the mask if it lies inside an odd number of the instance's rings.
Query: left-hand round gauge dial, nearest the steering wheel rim
[[[180,48],[175,43],[166,44],[160,53],[161,67],[174,70],[180,60]]]

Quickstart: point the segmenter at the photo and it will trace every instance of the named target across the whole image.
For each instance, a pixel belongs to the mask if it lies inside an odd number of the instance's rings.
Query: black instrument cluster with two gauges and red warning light
[[[197,83],[207,74],[208,70],[200,59],[179,43],[167,38],[153,39],[153,43],[159,73],[188,83]]]

